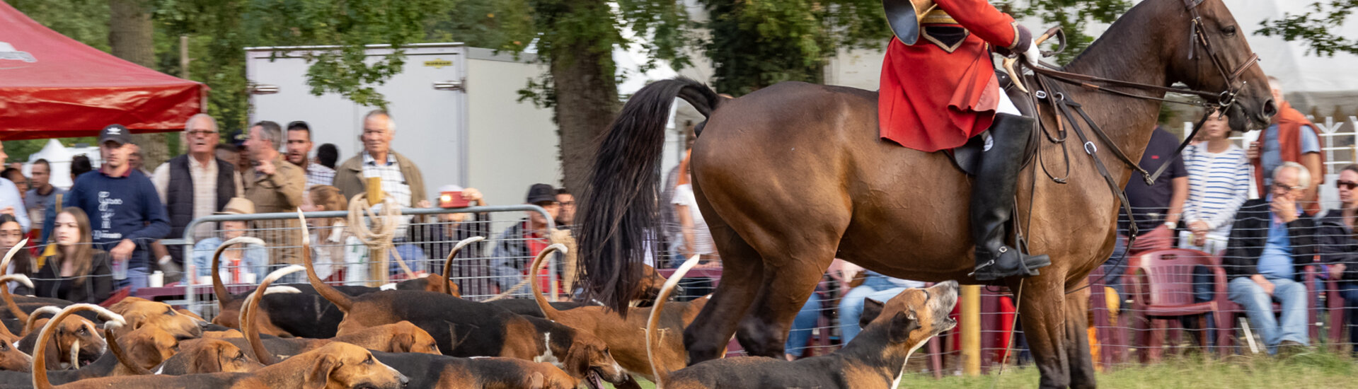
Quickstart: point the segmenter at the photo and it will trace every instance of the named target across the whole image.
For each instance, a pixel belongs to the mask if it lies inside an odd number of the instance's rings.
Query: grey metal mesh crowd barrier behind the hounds
[[[496,213],[511,216],[492,217]],[[534,253],[562,239],[559,233],[549,233],[557,230],[550,217],[536,218],[540,224],[535,225],[531,213],[546,214],[542,207],[531,205],[406,209],[390,244],[365,237],[365,232],[354,225],[365,221],[349,218],[345,211],[304,216],[316,275],[333,285],[380,287],[443,274],[445,259],[459,241],[485,237],[459,251],[448,272],[463,298],[485,300],[501,293],[527,297],[528,289],[521,287],[524,268]],[[194,240],[191,232],[186,237],[183,244],[191,248],[186,251],[186,277],[178,287],[182,289],[182,304],[205,317],[215,314],[216,297],[212,294],[209,268],[213,251],[221,243],[239,236],[258,239],[223,252],[217,274],[232,293],[247,291],[273,268],[301,263],[303,232],[295,213],[212,216],[194,221],[194,225],[201,224],[212,228],[201,240]],[[554,283],[559,285],[559,260],[549,262],[546,267]],[[295,272],[276,285],[306,282],[304,274]],[[562,290],[549,293],[561,295]]]

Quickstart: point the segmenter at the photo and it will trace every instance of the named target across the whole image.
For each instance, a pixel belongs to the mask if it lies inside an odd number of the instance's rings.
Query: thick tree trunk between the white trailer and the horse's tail
[[[562,45],[551,53],[561,168],[566,188],[579,191],[589,178],[595,140],[618,114],[612,53],[593,53],[589,43]]]

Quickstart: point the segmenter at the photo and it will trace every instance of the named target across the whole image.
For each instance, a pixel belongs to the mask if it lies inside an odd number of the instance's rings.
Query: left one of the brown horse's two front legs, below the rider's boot
[[[1009,287],[1017,290],[1019,281],[1010,281]],[[1023,332],[1032,348],[1033,362],[1042,374],[1039,388],[1070,386],[1065,275],[1055,268],[1043,268],[1042,275],[1024,279],[1021,287],[1019,314],[1023,317]]]

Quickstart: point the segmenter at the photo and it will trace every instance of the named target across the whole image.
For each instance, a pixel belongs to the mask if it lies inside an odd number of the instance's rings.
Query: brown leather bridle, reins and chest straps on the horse
[[[1244,76],[1245,70],[1248,70],[1251,66],[1255,66],[1259,62],[1259,54],[1251,53],[1249,57],[1245,58],[1245,61],[1243,61],[1238,66],[1236,66],[1236,69],[1233,69],[1233,70],[1228,69],[1225,61],[1222,61],[1221,56],[1217,53],[1217,50],[1211,45],[1211,41],[1207,39],[1207,34],[1203,31],[1203,26],[1205,24],[1203,24],[1203,20],[1202,20],[1202,15],[1198,12],[1198,5],[1202,4],[1202,1],[1205,1],[1205,0],[1183,0],[1184,8],[1188,12],[1190,23],[1191,23],[1190,24],[1190,34],[1188,34],[1188,58],[1190,60],[1200,60],[1200,56],[1198,54],[1198,46],[1200,45],[1202,49],[1203,49],[1203,52],[1206,53],[1206,57],[1211,61],[1213,68],[1217,70],[1217,73],[1221,75],[1222,80],[1226,81],[1226,87],[1225,87],[1224,91],[1202,91],[1202,89],[1194,89],[1194,88],[1190,88],[1190,87],[1164,87],[1164,85],[1142,84],[1142,83],[1133,83],[1133,81],[1123,81],[1123,80],[1112,80],[1112,79],[1104,79],[1104,77],[1089,76],[1089,75],[1077,75],[1077,73],[1057,70],[1055,68],[1051,68],[1051,66],[1028,66],[1033,72],[1033,80],[1036,81],[1036,84],[1039,87],[1042,87],[1040,89],[1032,91],[1029,94],[1032,96],[1032,99],[1033,99],[1033,107],[1040,107],[1040,104],[1038,104],[1038,103],[1040,100],[1046,100],[1052,107],[1054,117],[1057,119],[1055,129],[1057,129],[1057,131],[1058,131],[1059,136],[1054,137],[1051,134],[1047,134],[1047,138],[1050,141],[1052,141],[1052,142],[1063,142],[1065,138],[1066,138],[1066,136],[1065,136],[1065,125],[1069,125],[1073,129],[1073,131],[1076,133],[1076,136],[1080,137],[1080,141],[1084,144],[1085,153],[1088,153],[1093,159],[1095,167],[1099,169],[1099,173],[1103,175],[1104,182],[1108,184],[1108,188],[1122,202],[1122,209],[1127,214],[1127,218],[1128,218],[1128,224],[1127,224],[1128,225],[1128,230],[1127,230],[1127,245],[1126,247],[1127,247],[1128,251],[1130,251],[1130,248],[1133,245],[1133,241],[1135,240],[1135,236],[1138,234],[1138,228],[1137,228],[1135,220],[1133,218],[1133,211],[1131,211],[1131,206],[1127,202],[1127,195],[1122,190],[1122,187],[1118,183],[1118,180],[1115,180],[1112,178],[1112,173],[1104,165],[1103,160],[1099,157],[1099,153],[1097,153],[1099,148],[1097,148],[1097,145],[1095,145],[1089,140],[1089,137],[1085,134],[1085,131],[1084,131],[1082,126],[1080,125],[1080,122],[1081,121],[1085,122],[1089,126],[1089,130],[1092,133],[1095,133],[1095,136],[1097,136],[1100,138],[1100,141],[1111,149],[1112,155],[1116,156],[1119,160],[1122,160],[1122,163],[1126,164],[1128,168],[1131,168],[1133,171],[1141,173],[1142,179],[1149,186],[1149,184],[1154,184],[1156,179],[1161,173],[1164,173],[1165,169],[1171,164],[1173,164],[1183,155],[1184,148],[1187,148],[1188,144],[1190,144],[1190,141],[1192,141],[1192,138],[1198,134],[1198,131],[1202,130],[1203,123],[1206,123],[1207,118],[1214,111],[1219,110],[1221,112],[1225,112],[1226,110],[1232,108],[1236,104],[1236,96],[1248,84],[1245,80],[1241,80],[1241,77]],[[1050,37],[1058,37],[1059,38],[1061,45],[1059,45],[1059,47],[1057,50],[1058,53],[1065,49],[1065,35],[1061,34],[1059,27],[1048,30],[1047,34],[1042,35],[1042,38],[1035,39],[1032,45],[1038,45],[1038,43],[1040,43],[1042,41],[1044,41],[1044,39],[1047,39]],[[1043,54],[1044,56],[1050,56],[1052,53],[1043,53]],[[1016,72],[1012,70],[1013,69],[1012,66],[1013,66],[1014,62],[1020,62],[1020,64],[1027,65],[1024,61],[1016,61],[1016,60],[1010,58],[1010,60],[1005,61],[1005,69],[1010,70],[1010,77],[1013,80],[1016,80],[1016,87],[1019,87],[1020,89],[1027,91],[1027,88],[1024,88],[1021,83],[1017,83],[1017,80],[1023,79],[1021,75],[1019,75],[1019,73],[1016,73]],[[1195,68],[1200,68],[1200,66],[1195,66]],[[1148,172],[1146,169],[1142,169],[1135,161],[1133,161],[1130,157],[1127,157],[1127,155],[1120,148],[1118,148],[1118,145],[1115,142],[1112,142],[1112,138],[1108,137],[1108,134],[1104,133],[1104,130],[1101,127],[1099,127],[1099,125],[1095,123],[1095,121],[1088,114],[1085,114],[1082,106],[1080,103],[1076,103],[1076,102],[1070,100],[1069,95],[1062,91],[1061,85],[1058,85],[1055,83],[1051,83],[1051,81],[1059,81],[1059,83],[1065,83],[1065,84],[1073,84],[1073,85],[1078,85],[1078,87],[1082,87],[1082,88],[1086,88],[1086,89],[1107,92],[1107,94],[1126,96],[1126,98],[1143,99],[1143,100],[1158,100],[1158,102],[1164,102],[1164,103],[1198,106],[1198,107],[1203,107],[1205,110],[1203,110],[1202,118],[1194,126],[1194,129],[1188,134],[1188,137],[1181,144],[1179,144],[1179,148],[1175,150],[1175,153],[1172,156],[1169,156],[1168,160],[1162,161],[1160,164],[1160,168],[1156,169],[1154,173],[1152,173],[1152,172]],[[1112,87],[1112,88],[1109,88],[1109,87]],[[1198,100],[1198,102],[1181,102],[1181,100],[1172,100],[1172,99],[1165,99],[1165,98],[1141,95],[1141,94],[1128,92],[1128,91],[1123,91],[1123,89],[1115,89],[1115,88],[1141,89],[1141,91],[1146,91],[1146,92],[1152,92],[1152,94],[1188,95],[1188,96],[1196,96],[1200,100]],[[1040,137],[1042,134],[1046,133],[1047,126],[1043,123],[1042,114],[1036,114],[1036,118],[1038,118],[1039,126],[1043,130],[1042,131],[1033,131],[1033,137]],[[1065,148],[1062,148],[1062,149],[1065,149]],[[1039,157],[1040,157],[1040,153],[1039,153]],[[1067,159],[1069,159],[1069,156],[1067,156]],[[1066,167],[1067,167],[1067,172],[1069,172],[1070,164],[1067,163]],[[1043,169],[1046,169],[1046,167],[1043,167]],[[1055,178],[1051,173],[1047,173],[1047,176],[1048,176],[1048,179],[1051,179],[1051,180],[1054,180],[1057,183],[1066,183],[1063,178]],[[1033,186],[1033,188],[1035,187],[1036,186]],[[1032,199],[1032,198],[1033,197],[1029,197],[1029,199]],[[1023,240],[1021,234],[1017,239],[1021,241]],[[1122,256],[1126,258],[1126,253],[1127,252],[1123,251]],[[1119,262],[1120,260],[1122,259],[1119,259]],[[1104,274],[1104,277],[1107,277],[1107,274]],[[1088,287],[1088,285],[1085,287]],[[1070,293],[1073,293],[1073,291],[1070,291]]]

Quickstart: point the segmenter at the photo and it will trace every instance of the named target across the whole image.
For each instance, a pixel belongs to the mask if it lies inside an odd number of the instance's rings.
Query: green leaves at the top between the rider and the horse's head
[[[1010,7],[1004,7],[1006,12],[1014,16],[1038,16],[1042,19],[1042,26],[1061,26],[1061,30],[1066,33],[1066,50],[1057,54],[1058,64],[1069,64],[1070,60],[1076,58],[1080,52],[1084,52],[1089,43],[1095,42],[1095,37],[1085,34],[1085,28],[1089,27],[1090,22],[1096,23],[1112,23],[1118,20],[1118,16],[1126,14],[1131,8],[1131,1],[1128,0],[1033,0],[1029,7],[1021,9],[1012,9]],[[1027,26],[1033,28],[1033,35],[1042,34],[1044,28],[1038,26]],[[1048,45],[1055,45],[1055,41]]]

